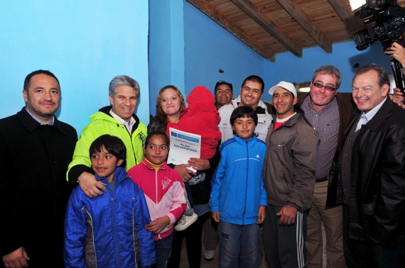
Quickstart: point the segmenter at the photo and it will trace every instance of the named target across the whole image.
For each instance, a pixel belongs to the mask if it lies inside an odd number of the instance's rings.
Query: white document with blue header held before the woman
[[[188,164],[190,157],[200,158],[201,136],[193,133],[169,128],[170,151],[168,155],[169,164]],[[195,169],[188,167],[188,169]]]

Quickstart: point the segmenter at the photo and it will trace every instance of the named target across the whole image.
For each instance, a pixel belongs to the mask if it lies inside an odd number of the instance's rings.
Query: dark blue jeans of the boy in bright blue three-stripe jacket
[[[259,267],[259,225],[218,223],[220,267]]]

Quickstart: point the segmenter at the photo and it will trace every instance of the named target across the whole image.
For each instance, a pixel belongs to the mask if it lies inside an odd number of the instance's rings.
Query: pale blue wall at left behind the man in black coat
[[[119,74],[139,82],[148,122],[148,1],[1,1],[0,16],[0,118],[24,106],[26,74],[49,69],[62,89],[57,116],[78,133]]]

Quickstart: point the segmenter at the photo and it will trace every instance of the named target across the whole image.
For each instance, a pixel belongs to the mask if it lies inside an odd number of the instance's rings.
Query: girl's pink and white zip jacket
[[[155,235],[155,241],[166,238],[173,232],[174,223],[185,211],[184,184],[178,173],[166,162],[154,169],[145,158],[128,170],[131,179],[144,191],[151,220],[163,216],[170,218],[170,225]]]

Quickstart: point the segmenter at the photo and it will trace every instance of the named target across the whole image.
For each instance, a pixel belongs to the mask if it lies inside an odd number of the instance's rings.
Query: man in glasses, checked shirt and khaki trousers
[[[307,216],[306,249],[308,267],[323,267],[321,224],[325,226],[328,267],[345,267],[342,240],[342,206],[325,209],[328,175],[343,131],[350,121],[353,104],[350,93],[338,94],[341,75],[326,65],[315,70],[309,93],[298,95],[298,106],[318,133],[315,189]]]

